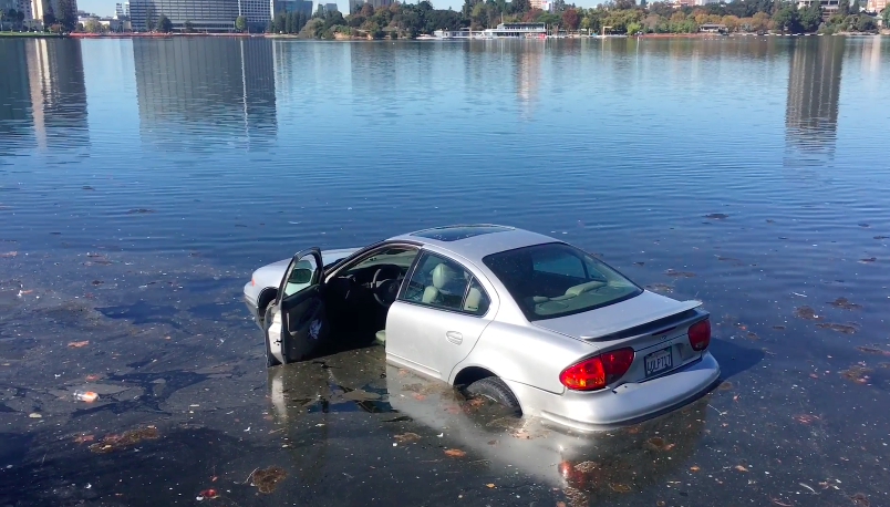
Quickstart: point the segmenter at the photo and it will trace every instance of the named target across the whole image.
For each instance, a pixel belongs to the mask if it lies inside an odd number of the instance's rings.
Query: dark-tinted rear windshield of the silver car
[[[528,320],[580,313],[642,293],[614,269],[566,244],[493,254],[483,262],[500,279]]]

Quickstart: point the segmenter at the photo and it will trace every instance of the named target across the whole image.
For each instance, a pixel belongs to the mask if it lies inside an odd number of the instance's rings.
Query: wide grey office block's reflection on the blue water
[[[266,39],[133,41],[142,134],[177,142],[182,131],[241,135],[249,144],[278,131],[275,60]],[[210,135],[203,141],[213,143]]]

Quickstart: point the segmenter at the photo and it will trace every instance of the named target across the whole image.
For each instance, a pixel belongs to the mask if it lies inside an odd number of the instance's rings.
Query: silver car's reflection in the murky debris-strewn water
[[[292,458],[304,480],[312,480],[312,470],[324,474],[320,462],[328,457],[320,441],[352,442],[358,461],[346,464],[348,474],[349,465],[362,467],[362,454],[374,454],[366,445],[387,446],[394,437],[397,443],[397,433],[434,442],[418,449],[434,457],[442,457],[443,447],[460,448],[494,469],[520,470],[562,488],[572,504],[664,485],[666,476],[690,466],[707,407],[705,396],[634,426],[571,433],[514,417],[494,403],[466,400],[446,384],[389,365],[382,346],[270,369],[268,389],[275,420],[298,448]]]

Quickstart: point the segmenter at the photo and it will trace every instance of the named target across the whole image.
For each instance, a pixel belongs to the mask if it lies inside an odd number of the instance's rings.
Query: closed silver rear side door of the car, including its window
[[[447,381],[490,322],[488,306],[468,270],[424,252],[386,315],[386,356]]]

